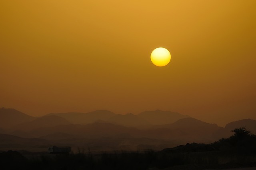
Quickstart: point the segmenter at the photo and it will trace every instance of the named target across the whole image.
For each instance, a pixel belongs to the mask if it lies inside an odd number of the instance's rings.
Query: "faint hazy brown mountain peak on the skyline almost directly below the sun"
[[[140,118],[143,118],[144,120],[146,120],[147,122],[153,125],[171,124],[176,122],[179,119],[189,117],[176,112],[161,111],[161,110],[145,111],[145,112],[141,112],[137,116]]]

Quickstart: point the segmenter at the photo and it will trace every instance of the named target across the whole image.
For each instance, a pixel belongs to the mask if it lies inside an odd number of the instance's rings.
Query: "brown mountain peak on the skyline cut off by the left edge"
[[[0,109],[0,128],[6,129],[35,118],[12,108]]]

